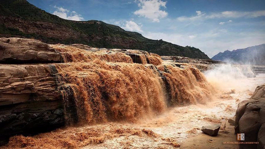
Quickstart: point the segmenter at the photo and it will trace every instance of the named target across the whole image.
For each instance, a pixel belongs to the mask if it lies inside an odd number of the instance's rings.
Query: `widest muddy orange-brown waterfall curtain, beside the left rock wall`
[[[72,86],[82,122],[133,122],[165,110],[161,79],[141,64],[94,60],[56,67],[62,81]]]

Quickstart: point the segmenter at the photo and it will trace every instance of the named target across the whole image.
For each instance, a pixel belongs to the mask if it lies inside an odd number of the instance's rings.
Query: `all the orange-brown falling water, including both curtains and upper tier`
[[[61,76],[59,82],[65,87],[65,117],[69,125],[134,122],[160,114],[167,105],[204,103],[213,91],[196,68],[145,67],[147,63],[161,64],[157,54],[132,50],[142,62],[135,64],[130,56],[115,50],[90,52],[59,44],[52,47],[63,52],[69,62],[55,65]],[[153,71],[160,71],[162,76]]]

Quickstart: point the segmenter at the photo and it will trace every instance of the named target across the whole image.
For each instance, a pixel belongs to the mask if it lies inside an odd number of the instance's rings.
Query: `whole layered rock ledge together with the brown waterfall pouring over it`
[[[0,134],[135,122],[168,106],[205,103],[214,90],[195,67],[140,50],[0,38]]]

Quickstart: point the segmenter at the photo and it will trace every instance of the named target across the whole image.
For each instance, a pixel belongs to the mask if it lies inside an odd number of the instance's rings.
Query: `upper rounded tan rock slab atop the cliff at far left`
[[[1,63],[62,62],[61,54],[34,39],[0,38]]]

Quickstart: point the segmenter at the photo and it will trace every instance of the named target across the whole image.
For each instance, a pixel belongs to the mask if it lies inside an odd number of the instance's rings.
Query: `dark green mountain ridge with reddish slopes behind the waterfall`
[[[99,48],[140,49],[164,56],[210,59],[200,49],[148,39],[102,21],[65,20],[26,0],[0,0],[0,37],[34,38],[51,44],[80,43]]]

